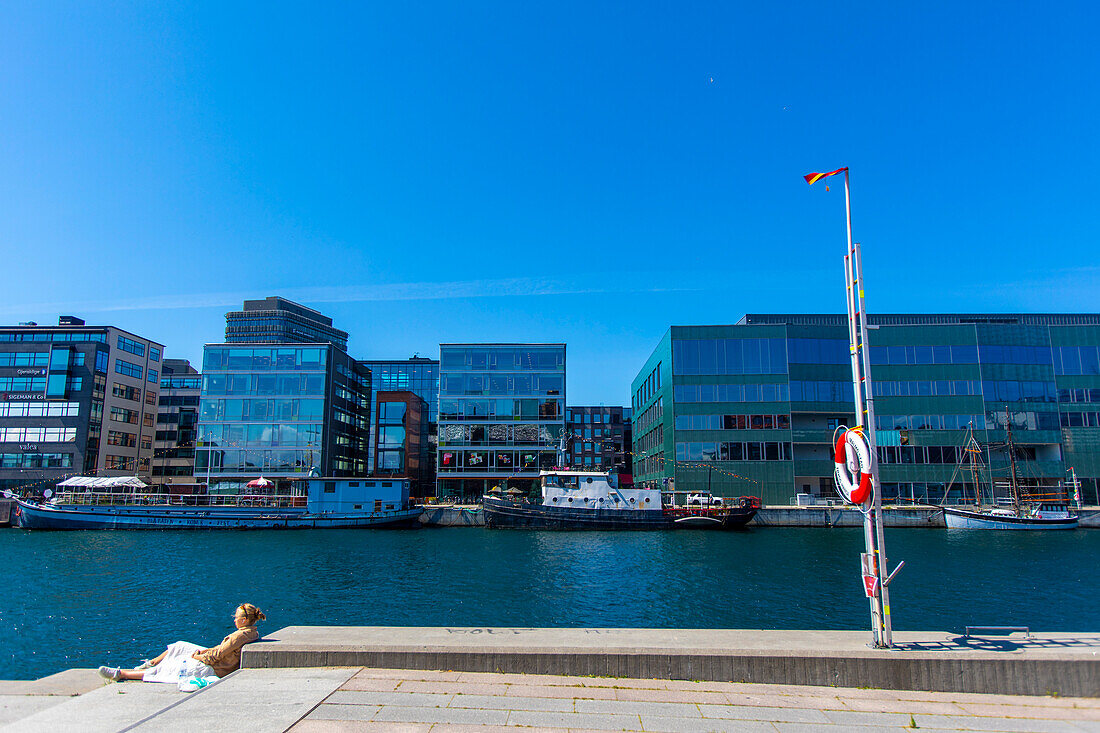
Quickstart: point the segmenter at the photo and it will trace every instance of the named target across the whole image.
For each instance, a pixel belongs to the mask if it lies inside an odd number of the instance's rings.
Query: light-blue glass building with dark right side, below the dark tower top
[[[370,371],[332,344],[207,344],[196,478],[366,475],[370,395]]]

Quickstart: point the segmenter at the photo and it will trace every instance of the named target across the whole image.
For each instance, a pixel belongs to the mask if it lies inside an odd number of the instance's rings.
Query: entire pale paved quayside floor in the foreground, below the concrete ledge
[[[63,687],[0,686],[0,730],[1100,733],[1098,698],[346,667],[243,669],[193,694],[123,682],[64,697]]]

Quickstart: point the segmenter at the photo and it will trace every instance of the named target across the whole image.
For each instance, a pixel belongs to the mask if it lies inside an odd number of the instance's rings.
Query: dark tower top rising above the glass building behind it
[[[348,332],[312,308],[271,296],[226,314],[226,343],[331,343],[346,351]]]

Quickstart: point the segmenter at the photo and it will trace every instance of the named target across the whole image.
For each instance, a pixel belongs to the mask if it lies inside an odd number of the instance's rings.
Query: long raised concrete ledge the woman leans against
[[[356,666],[877,687],[1100,693],[1100,634],[964,638],[944,632],[289,626],[244,647],[246,668]]]

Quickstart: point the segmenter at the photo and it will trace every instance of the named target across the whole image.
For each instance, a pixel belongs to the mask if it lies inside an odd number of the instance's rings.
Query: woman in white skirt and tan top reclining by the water
[[[256,622],[267,616],[251,603],[242,603],[233,613],[237,631],[221,641],[218,646],[205,649],[198,644],[176,642],[158,657],[143,663],[134,669],[100,667],[99,674],[107,679],[140,679],[146,682],[176,685],[180,678],[224,677],[241,666],[241,647],[260,638]]]

